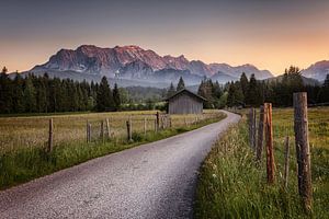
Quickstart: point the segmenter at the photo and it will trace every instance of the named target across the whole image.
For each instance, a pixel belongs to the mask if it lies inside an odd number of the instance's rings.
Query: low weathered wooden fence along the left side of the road
[[[123,123],[122,127],[112,127],[111,119],[103,118],[100,120],[86,120],[86,142],[94,141],[107,141],[114,138],[125,138],[128,142],[133,141],[134,134],[147,135],[148,132],[158,132],[169,128],[189,127],[194,124],[202,123],[203,120],[217,117],[217,113],[206,113],[203,115],[186,115],[179,116],[172,119],[169,114],[161,114],[157,112],[156,114],[143,114],[143,115],[128,115],[125,118],[121,118],[120,123]],[[115,122],[117,125],[117,120]],[[56,119],[49,119],[48,125],[48,140],[47,140],[47,151],[52,151],[54,148],[54,124],[56,125]],[[125,129],[125,134],[123,132]],[[55,128],[56,130],[56,128]],[[115,135],[115,132],[120,132]],[[115,137],[114,137],[115,136]]]

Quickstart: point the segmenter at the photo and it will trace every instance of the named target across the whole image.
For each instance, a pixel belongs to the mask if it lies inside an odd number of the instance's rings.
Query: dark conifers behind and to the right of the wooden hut
[[[182,78],[177,89],[171,83],[167,95],[182,89],[181,84],[184,84]],[[220,85],[218,81],[213,82],[205,78],[197,89],[197,94],[207,100],[204,103],[205,108],[259,106],[264,102],[287,107],[293,105],[294,92],[307,92],[309,104],[329,104],[329,74],[324,84],[309,84],[303,81],[299,68],[291,66],[283,76],[266,80],[257,80],[254,74],[248,79],[242,72],[240,80]]]

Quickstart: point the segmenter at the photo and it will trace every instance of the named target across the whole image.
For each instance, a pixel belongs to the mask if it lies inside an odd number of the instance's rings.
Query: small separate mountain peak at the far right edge
[[[307,69],[303,70],[302,74],[306,78],[325,81],[327,74],[329,74],[329,60],[322,60],[311,65]]]

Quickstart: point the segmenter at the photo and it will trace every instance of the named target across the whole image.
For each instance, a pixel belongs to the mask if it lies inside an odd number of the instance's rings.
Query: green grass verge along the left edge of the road
[[[0,154],[0,189],[4,189],[33,178],[82,163],[93,158],[122,151],[141,143],[164,139],[178,134],[219,122],[226,115],[202,120],[183,128],[168,128],[158,132],[133,134],[133,142],[125,139],[109,139],[105,142],[61,143],[47,153],[43,148],[18,149]]]

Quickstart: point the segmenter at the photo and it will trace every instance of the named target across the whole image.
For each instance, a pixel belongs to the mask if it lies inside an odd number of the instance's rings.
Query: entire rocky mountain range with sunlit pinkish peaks
[[[103,76],[112,83],[121,87],[168,87],[177,83],[182,77],[188,85],[198,84],[204,78],[211,78],[219,83],[238,80],[242,72],[250,77],[254,73],[259,80],[273,78],[268,70],[246,64],[232,67],[227,64],[205,64],[201,60],[188,60],[183,55],[173,57],[160,56],[154,50],[138,46],[115,46],[101,48],[93,45],[82,45],[77,49],[60,49],[44,65],[38,65],[26,74],[43,74],[70,78],[73,80],[100,81]],[[302,71],[306,78],[324,81],[329,73],[329,61],[319,61]]]

